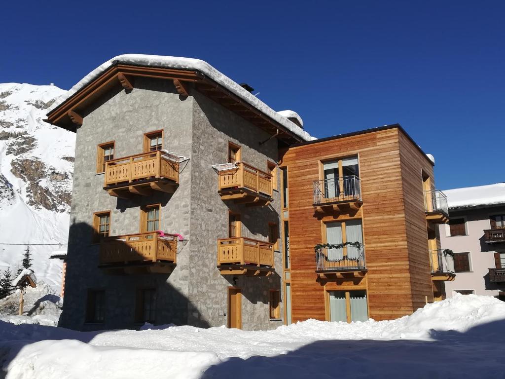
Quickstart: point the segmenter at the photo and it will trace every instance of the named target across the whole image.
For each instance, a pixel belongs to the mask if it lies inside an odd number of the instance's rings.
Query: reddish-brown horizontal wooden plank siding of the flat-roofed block
[[[294,146],[282,157],[281,167],[288,168],[293,322],[328,319],[325,289],[366,289],[369,317],[376,320],[411,314],[426,296],[432,300],[420,167],[430,174],[432,169],[416,149],[393,127]],[[359,157],[363,206],[348,214],[316,214],[313,181],[321,179],[320,161],[352,155]],[[406,189],[412,194],[406,196]],[[349,218],[363,219],[368,272],[364,279],[318,281],[314,246],[325,242],[323,222]]]

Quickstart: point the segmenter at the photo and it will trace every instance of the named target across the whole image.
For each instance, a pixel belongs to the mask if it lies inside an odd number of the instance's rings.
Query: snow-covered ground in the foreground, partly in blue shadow
[[[7,378],[504,377],[505,303],[457,295],[392,321],[270,331],[166,326],[81,333],[0,321]]]

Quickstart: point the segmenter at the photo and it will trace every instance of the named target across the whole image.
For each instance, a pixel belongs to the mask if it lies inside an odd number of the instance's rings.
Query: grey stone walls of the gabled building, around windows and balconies
[[[226,324],[228,287],[242,291],[242,328],[269,329],[269,290],[280,290],[279,274],[268,277],[222,276],[217,269],[217,239],[226,238],[228,212],[240,213],[242,236],[267,241],[268,224],[279,224],[280,196],[268,207],[223,202],[213,164],[225,163],[228,142],[241,146],[242,161],[261,170],[277,161],[277,140],[231,111],[193,91],[180,97],[169,80],[137,78],[126,93],[119,88],[94,104],[77,131],[69,234],[66,297],[60,325],[81,329],[136,328],[136,291],[156,288],[156,323],[220,326]],[[189,157],[174,194],[124,200],[104,191],[104,175],[95,174],[98,144],[115,141],[115,157],[142,152],[143,134],[163,129],[164,149]],[[278,172],[278,170],[277,170]],[[279,182],[279,179],[277,180]],[[98,245],[91,244],[94,212],[111,211],[110,235],[139,231],[140,207],[161,203],[160,228],[189,240],[171,274],[110,275],[99,269]],[[275,267],[282,273],[282,258]],[[85,322],[88,290],[106,294],[105,321]],[[282,299],[282,296],[281,296]],[[281,314],[283,311],[281,310]]]

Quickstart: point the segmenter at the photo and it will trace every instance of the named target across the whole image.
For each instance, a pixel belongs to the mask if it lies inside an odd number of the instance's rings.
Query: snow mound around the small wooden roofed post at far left
[[[52,287],[39,281],[37,287],[25,288],[23,315],[21,316],[18,315],[20,292],[21,290],[17,289],[12,295],[0,299],[0,321],[16,325],[58,325],[63,303]]]

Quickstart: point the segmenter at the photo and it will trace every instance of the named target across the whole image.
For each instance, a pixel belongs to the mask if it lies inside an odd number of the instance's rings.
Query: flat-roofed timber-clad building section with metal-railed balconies
[[[443,298],[454,274],[440,250],[448,211],[433,164],[399,125],[289,148],[280,162],[288,319],[392,319]],[[324,247],[357,241],[364,248]]]

